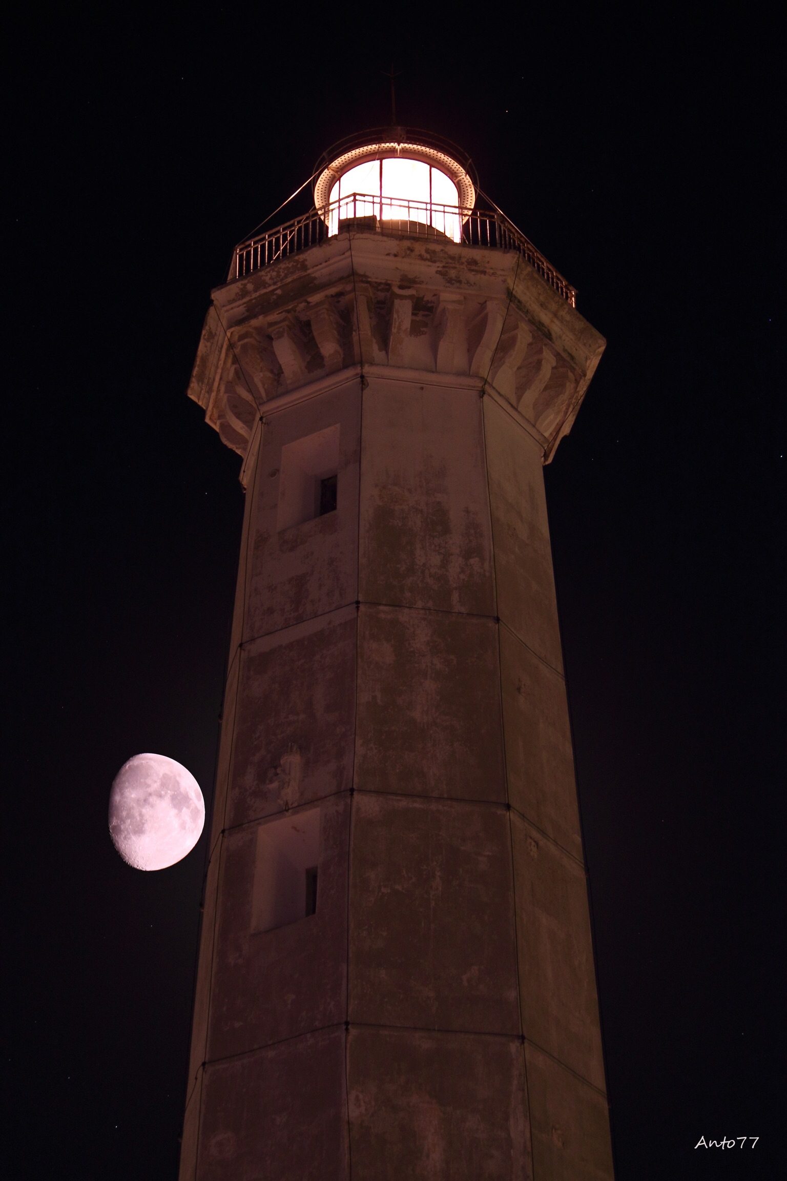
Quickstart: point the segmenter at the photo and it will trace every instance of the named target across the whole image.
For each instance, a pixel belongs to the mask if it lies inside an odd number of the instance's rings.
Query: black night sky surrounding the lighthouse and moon
[[[138,751],[212,789],[243,495],[185,389],[234,244],[389,122],[393,60],[608,339],[546,487],[617,1181],[782,1175],[783,31],[386,8],[11,26],[4,1172],[177,1176],[205,837],[139,873],[106,805]]]

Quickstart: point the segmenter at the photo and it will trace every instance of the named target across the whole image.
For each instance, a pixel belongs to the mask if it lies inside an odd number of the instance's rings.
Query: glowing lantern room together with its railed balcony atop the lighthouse
[[[470,162],[447,141],[438,143],[422,133],[408,139],[405,135],[399,142],[382,136],[373,139],[367,132],[326,154],[314,208],[241,242],[228,281],[342,234],[381,234],[427,239],[457,249],[517,250],[576,307],[576,289],[500,210],[474,208],[477,185]]]

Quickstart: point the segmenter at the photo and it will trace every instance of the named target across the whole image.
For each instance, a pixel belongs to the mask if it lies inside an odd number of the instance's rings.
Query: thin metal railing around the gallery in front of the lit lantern
[[[235,248],[228,279],[254,274],[278,259],[319,246],[320,242],[348,230],[519,250],[523,259],[571,307],[577,306],[577,293],[571,283],[501,214],[362,193],[334,201],[322,210],[311,209],[301,217],[251,237],[248,242],[241,242]]]

